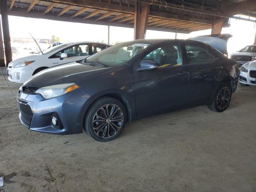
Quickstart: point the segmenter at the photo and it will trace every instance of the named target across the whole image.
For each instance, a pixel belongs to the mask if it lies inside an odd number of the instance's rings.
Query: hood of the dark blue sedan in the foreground
[[[24,85],[44,87],[63,83],[72,83],[88,76],[99,74],[109,68],[89,66],[76,62],[48,68],[30,77]]]

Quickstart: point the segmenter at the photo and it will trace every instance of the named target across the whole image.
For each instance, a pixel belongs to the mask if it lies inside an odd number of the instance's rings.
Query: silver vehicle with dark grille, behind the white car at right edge
[[[230,58],[236,60],[238,63],[238,68],[240,68],[243,64],[256,59],[256,45],[248,45],[242,48],[240,51],[232,54]]]

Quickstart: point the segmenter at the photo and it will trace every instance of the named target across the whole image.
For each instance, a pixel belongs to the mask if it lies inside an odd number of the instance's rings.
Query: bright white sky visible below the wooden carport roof
[[[15,38],[51,39],[52,35],[58,36],[61,42],[98,41],[108,42],[108,27],[94,24],[62,22],[46,19],[24,18],[8,16],[10,36]],[[177,38],[186,39],[199,35],[210,34],[211,30],[191,32],[190,34],[177,34]],[[223,28],[222,34],[232,34],[228,40],[229,54],[236,52],[246,45],[253,44],[256,26],[254,22],[230,19],[230,27]],[[110,26],[110,44],[133,40],[133,28]],[[175,38],[175,33],[161,31],[146,31],[146,38]]]

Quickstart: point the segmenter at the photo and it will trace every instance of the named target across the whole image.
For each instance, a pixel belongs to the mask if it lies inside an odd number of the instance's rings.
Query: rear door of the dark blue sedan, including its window
[[[182,48],[189,72],[189,102],[192,105],[209,102],[220,82],[222,62],[214,52],[209,52],[210,47],[203,44],[184,43]]]

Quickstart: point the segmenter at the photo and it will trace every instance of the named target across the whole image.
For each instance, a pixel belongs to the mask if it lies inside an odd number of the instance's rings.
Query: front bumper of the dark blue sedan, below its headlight
[[[62,96],[44,99],[40,94],[18,92],[20,122],[30,130],[49,134],[77,134],[83,132],[86,101],[90,95],[82,88]],[[53,125],[51,118],[58,120]]]

